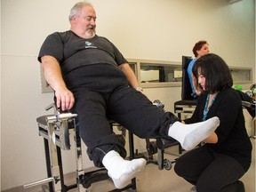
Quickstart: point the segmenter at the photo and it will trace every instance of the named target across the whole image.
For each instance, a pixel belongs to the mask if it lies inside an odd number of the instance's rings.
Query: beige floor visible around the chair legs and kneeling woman
[[[246,192],[255,192],[255,139],[252,139],[253,151],[252,151],[252,166],[248,172],[245,173],[242,178],[245,186]],[[176,153],[177,148],[169,148],[166,152]],[[172,156],[169,154],[164,155],[167,159],[174,159],[177,156]],[[70,173],[66,176],[67,184],[76,182],[76,174]],[[189,192],[192,185],[190,185],[186,180],[183,180],[173,172],[158,170],[156,164],[147,164],[145,170],[136,178],[137,191],[138,192]],[[90,192],[105,192],[114,189],[111,180],[104,180],[92,184]],[[3,192],[41,192],[42,187],[34,188],[13,188],[12,190]],[[70,192],[77,192],[78,189],[69,190]],[[132,191],[132,190],[126,190]],[[46,192],[46,191],[45,191]],[[48,192],[48,191],[47,191]]]

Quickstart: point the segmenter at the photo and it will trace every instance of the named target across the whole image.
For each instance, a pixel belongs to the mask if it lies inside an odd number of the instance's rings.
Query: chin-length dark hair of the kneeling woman
[[[198,70],[205,77],[204,89],[206,92],[215,93],[225,87],[232,87],[233,79],[227,63],[214,53],[208,53],[196,60],[192,71],[196,76],[196,86],[198,84]]]

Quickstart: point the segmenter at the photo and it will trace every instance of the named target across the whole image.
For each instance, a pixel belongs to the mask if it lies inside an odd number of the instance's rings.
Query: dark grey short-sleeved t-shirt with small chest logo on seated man
[[[94,36],[91,39],[84,39],[70,30],[47,36],[39,52],[40,62],[44,55],[51,55],[60,62],[63,76],[75,68],[86,65],[106,63],[117,67],[127,62],[107,38]]]

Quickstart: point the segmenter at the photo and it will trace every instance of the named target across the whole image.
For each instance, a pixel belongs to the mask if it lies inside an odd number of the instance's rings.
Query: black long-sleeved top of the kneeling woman
[[[184,120],[186,124],[202,122],[206,97],[207,94],[202,94],[198,98],[193,116]],[[215,131],[218,142],[205,145],[216,153],[234,157],[246,172],[251,165],[252,143],[245,129],[243,107],[236,90],[226,88],[218,93],[206,119],[212,116],[220,118],[220,126]]]

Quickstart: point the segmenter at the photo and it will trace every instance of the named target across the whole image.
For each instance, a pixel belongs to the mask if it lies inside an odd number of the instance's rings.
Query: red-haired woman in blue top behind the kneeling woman
[[[192,73],[192,68],[197,59],[199,59],[204,54],[207,54],[210,52],[209,44],[206,41],[201,40],[194,45],[192,51],[195,55],[195,59],[191,60],[190,63],[188,64],[187,72],[188,72],[188,78],[189,78],[189,82],[190,82],[191,89],[192,89],[192,94],[193,94],[194,98],[196,98],[201,93],[201,91],[198,90],[198,88],[196,88],[194,85],[195,83],[194,83],[194,78],[193,78],[194,76]]]

